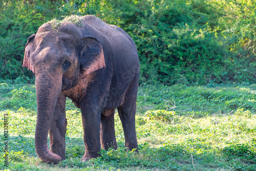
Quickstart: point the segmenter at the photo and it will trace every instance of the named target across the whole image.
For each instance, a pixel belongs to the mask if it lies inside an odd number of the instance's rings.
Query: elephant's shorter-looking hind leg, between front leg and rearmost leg
[[[117,148],[115,135],[115,109],[104,110],[100,118],[100,143],[105,150]]]

